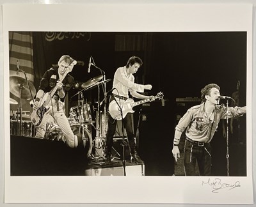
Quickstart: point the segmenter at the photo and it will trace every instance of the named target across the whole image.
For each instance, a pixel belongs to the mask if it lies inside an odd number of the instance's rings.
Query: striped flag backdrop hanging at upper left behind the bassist
[[[25,78],[24,73],[17,72],[17,61],[20,69],[26,72],[27,78],[33,83],[33,39],[32,32],[9,32],[10,76]]]

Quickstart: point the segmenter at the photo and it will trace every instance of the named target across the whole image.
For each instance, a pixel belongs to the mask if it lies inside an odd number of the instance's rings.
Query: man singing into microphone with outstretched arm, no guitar
[[[186,176],[196,176],[196,161],[200,176],[211,176],[211,139],[220,119],[236,118],[246,114],[244,107],[219,105],[220,87],[208,84],[201,90],[202,104],[191,107],[175,127],[172,153],[175,161],[180,157],[180,136],[186,130],[184,169]]]

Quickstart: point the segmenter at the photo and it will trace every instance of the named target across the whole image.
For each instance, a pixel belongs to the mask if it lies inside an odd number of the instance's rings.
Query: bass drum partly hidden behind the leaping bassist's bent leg
[[[81,125],[70,125],[72,132],[74,135],[77,135],[78,146],[77,148],[84,148],[86,151],[86,157],[90,157],[92,153],[92,134],[86,127],[82,127]],[[55,140],[55,141],[66,141],[66,137],[63,135],[60,127],[58,125],[54,125],[47,139]],[[84,137],[84,139],[83,139]]]

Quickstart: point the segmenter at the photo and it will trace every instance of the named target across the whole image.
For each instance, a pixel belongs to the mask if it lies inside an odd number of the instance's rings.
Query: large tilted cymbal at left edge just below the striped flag
[[[29,88],[31,89],[32,96],[34,97],[36,95],[36,89],[35,86],[30,81],[26,81],[26,79],[23,79],[19,76],[11,76],[10,77],[10,92],[20,97],[20,88],[21,88],[21,98],[32,98]]]

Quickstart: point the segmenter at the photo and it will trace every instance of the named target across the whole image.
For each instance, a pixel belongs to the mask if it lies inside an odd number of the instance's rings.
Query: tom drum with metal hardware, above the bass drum
[[[92,120],[92,111],[89,104],[76,105],[70,108],[70,120],[72,120],[71,124],[74,122],[77,124],[91,124],[95,122]]]

